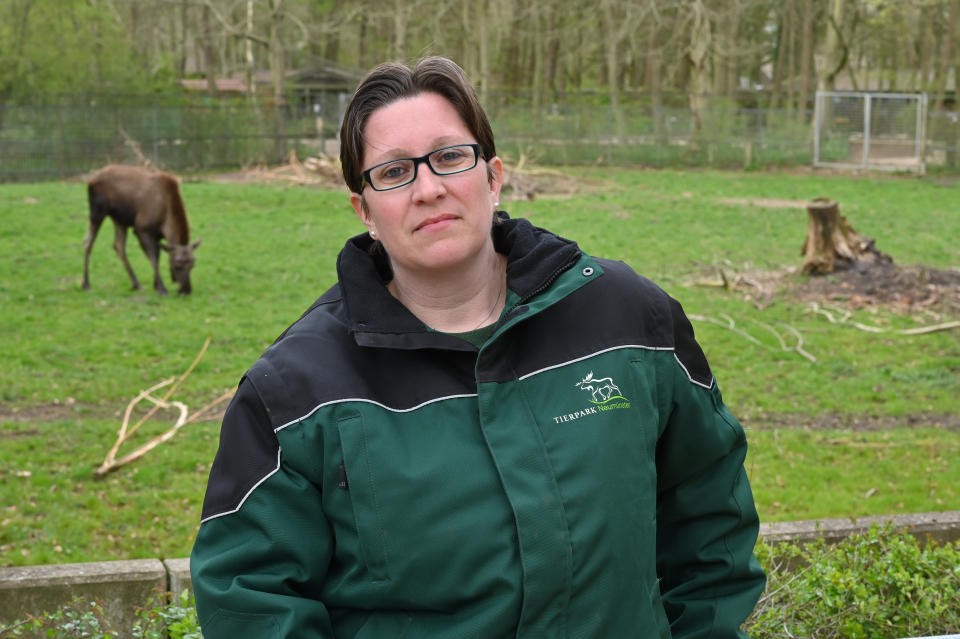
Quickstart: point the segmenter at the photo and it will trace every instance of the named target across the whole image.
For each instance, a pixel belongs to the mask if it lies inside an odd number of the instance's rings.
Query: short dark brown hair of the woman
[[[340,164],[350,191],[363,188],[363,130],[370,115],[402,98],[437,93],[453,105],[489,160],[497,154],[493,130],[477,93],[456,62],[439,56],[423,58],[413,68],[396,62],[374,67],[357,86],[340,127]]]

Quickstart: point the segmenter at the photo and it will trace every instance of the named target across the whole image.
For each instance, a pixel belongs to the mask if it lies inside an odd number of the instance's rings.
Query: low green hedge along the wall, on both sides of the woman
[[[835,545],[757,545],[767,588],[745,629],[753,639],[920,637],[960,630],[960,543],[921,545],[874,526]],[[67,639],[202,639],[186,591],[138,611],[128,632],[104,628],[99,602],[75,600],[11,626],[0,637],[43,632]]]

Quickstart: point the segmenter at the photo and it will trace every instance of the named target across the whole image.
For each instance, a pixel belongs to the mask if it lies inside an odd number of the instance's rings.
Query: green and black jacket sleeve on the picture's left
[[[319,487],[285,462],[244,378],[224,415],[190,557],[205,639],[332,638],[320,600],[332,546]]]

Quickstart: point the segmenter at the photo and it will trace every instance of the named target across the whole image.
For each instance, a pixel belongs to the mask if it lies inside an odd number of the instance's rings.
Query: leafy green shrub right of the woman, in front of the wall
[[[919,637],[960,629],[960,543],[873,526],[835,545],[759,544],[752,639]]]

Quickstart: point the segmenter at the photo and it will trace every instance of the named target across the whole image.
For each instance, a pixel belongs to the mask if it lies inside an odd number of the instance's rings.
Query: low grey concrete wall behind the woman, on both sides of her
[[[891,523],[921,541],[960,539],[960,510],[851,519],[818,519],[760,525],[768,542],[808,542],[823,537],[839,541],[873,524]],[[86,564],[56,564],[0,568],[0,627],[27,613],[51,612],[74,596],[100,599],[116,628],[130,628],[134,610],[160,593],[179,594],[190,588],[189,559],[138,559]]]

